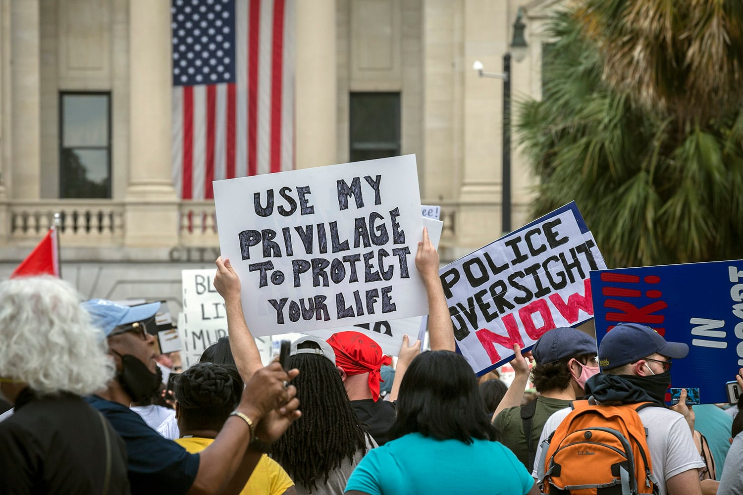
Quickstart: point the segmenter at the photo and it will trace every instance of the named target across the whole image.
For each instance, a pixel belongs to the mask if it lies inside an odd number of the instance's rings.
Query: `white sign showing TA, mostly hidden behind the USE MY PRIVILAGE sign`
[[[424,217],[423,225],[428,229],[428,237],[431,243],[438,249],[438,241],[441,239],[441,229],[444,227],[444,222]],[[379,344],[382,352],[386,355],[398,355],[400,346],[403,344],[403,335],[407,334],[412,344],[421,331],[421,327],[423,327],[425,332],[424,320],[426,318],[426,316],[412,316],[410,318],[398,318],[396,320],[366,322],[354,325],[353,327],[313,330],[305,333],[327,340],[334,333],[354,330],[354,332],[362,332],[369,335]]]

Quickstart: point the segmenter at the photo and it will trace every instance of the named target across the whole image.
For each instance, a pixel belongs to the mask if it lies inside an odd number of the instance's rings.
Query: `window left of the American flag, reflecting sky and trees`
[[[111,197],[111,94],[59,98],[59,197]]]

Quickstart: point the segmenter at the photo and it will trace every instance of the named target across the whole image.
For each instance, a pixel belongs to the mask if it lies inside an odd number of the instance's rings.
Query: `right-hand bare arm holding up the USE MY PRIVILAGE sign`
[[[438,252],[423,228],[423,241],[418,243],[415,253],[415,268],[421,273],[428,295],[428,335],[431,350],[455,350],[454,327],[449,314],[444,287],[438,278]]]

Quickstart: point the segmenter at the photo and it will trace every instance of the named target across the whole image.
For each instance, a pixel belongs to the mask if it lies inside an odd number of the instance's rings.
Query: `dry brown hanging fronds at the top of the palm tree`
[[[743,103],[740,0],[585,0],[575,15],[612,88],[684,124]]]

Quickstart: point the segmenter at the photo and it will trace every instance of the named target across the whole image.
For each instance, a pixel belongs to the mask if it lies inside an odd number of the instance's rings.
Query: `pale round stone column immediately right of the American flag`
[[[335,36],[335,0],[296,2],[296,168],[337,163]]]

